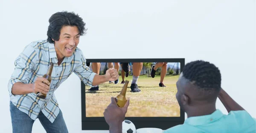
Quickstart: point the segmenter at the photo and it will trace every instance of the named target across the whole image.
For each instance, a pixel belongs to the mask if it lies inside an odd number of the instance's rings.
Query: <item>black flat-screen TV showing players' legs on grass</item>
[[[104,75],[114,67],[119,80],[91,88],[81,82],[82,130],[109,130],[103,112],[128,80],[126,97],[130,105],[125,119],[136,128],[157,127],[166,130],[183,124],[184,112],[176,100],[176,82],[185,65],[184,58],[87,59],[87,66]],[[152,70],[153,69],[153,70]]]

